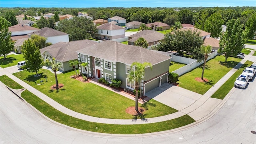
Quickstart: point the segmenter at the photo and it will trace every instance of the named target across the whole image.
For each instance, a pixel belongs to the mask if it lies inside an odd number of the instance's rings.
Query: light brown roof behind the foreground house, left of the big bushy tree
[[[149,31],[154,31],[154,30],[149,30]],[[140,33],[140,32],[138,32],[138,33]],[[147,41],[147,43],[156,42],[156,41],[159,41],[159,40],[163,40],[164,39],[164,34],[154,31],[154,32],[151,32],[149,34],[142,34],[140,36],[132,38],[132,39],[128,40],[128,42],[135,42],[136,40],[138,40],[138,38],[144,38]]]

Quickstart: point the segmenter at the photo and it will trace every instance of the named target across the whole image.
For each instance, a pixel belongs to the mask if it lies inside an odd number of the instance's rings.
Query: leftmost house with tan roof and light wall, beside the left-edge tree
[[[24,24],[16,24],[14,26],[10,26],[8,29],[10,32],[12,32],[11,39],[13,41],[20,40],[21,38],[28,38],[28,33],[39,30],[38,28],[34,28],[32,26],[27,26]]]

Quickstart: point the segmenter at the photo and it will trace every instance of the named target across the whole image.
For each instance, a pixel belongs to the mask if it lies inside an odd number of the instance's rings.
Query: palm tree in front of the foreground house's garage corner
[[[140,62],[133,62],[131,68],[133,66],[136,67],[136,70],[130,71],[130,74],[128,75],[128,80],[129,82],[135,82],[135,110],[138,112],[138,90],[140,87],[139,82],[143,79],[145,68],[150,66],[150,68],[152,69],[152,65],[149,62],[144,62],[143,64],[141,64]]]

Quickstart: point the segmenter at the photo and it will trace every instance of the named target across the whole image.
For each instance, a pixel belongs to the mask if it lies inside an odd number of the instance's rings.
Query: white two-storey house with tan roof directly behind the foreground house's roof
[[[96,39],[99,40],[113,40],[117,38],[125,37],[125,30],[123,27],[115,25],[115,24],[102,24],[97,26],[97,34],[95,34]]]

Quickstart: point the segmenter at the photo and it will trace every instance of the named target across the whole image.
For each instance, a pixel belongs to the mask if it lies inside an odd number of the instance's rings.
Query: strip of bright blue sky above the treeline
[[[0,0],[0,7],[228,7],[256,6],[256,0]]]

